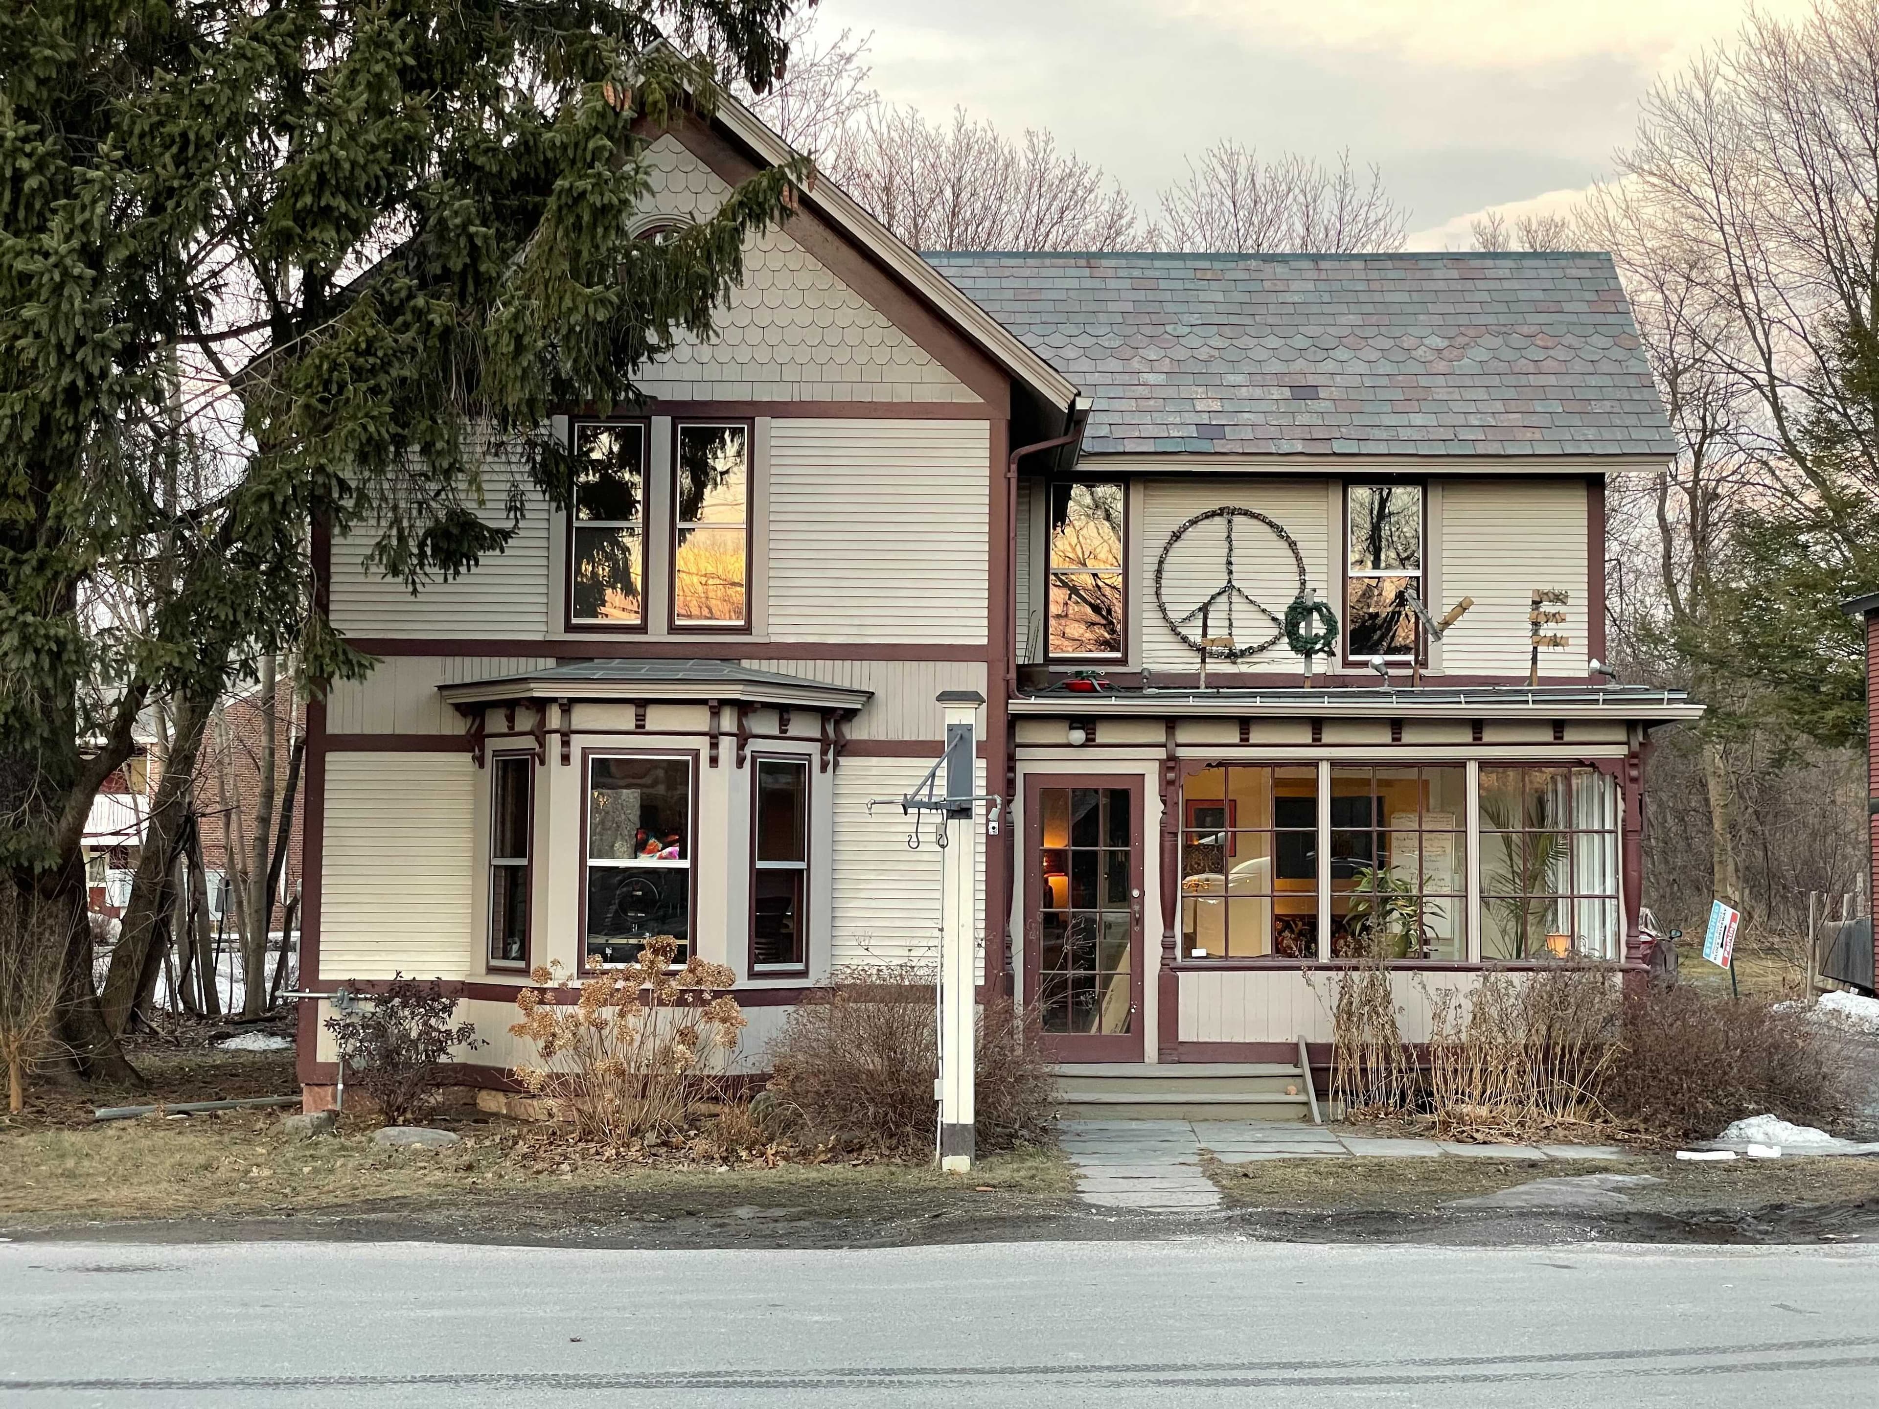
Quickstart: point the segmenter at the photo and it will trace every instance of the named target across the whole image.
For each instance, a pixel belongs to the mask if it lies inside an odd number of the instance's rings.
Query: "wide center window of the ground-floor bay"
[[[586,962],[631,964],[669,934],[691,954],[691,759],[588,757]]]

